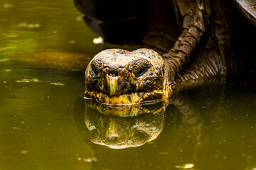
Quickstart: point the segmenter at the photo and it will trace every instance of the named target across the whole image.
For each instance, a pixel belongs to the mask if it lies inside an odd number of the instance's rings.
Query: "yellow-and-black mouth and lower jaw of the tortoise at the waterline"
[[[105,105],[131,106],[144,103],[156,103],[163,101],[163,91],[154,90],[149,92],[136,91],[133,93],[110,96],[102,91],[85,91],[85,99],[93,99]]]

